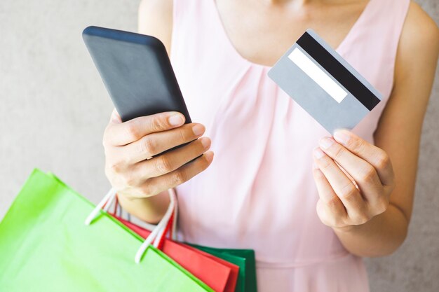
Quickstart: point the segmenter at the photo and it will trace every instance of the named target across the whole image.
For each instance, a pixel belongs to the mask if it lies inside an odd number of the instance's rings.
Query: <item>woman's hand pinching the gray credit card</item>
[[[333,138],[320,139],[313,160],[320,197],[317,214],[325,225],[349,229],[386,211],[394,174],[381,148],[348,130],[337,130]]]

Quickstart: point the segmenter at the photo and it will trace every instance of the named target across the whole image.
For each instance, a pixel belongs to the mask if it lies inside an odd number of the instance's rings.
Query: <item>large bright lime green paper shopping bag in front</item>
[[[0,223],[0,291],[212,291],[53,174],[35,169]]]

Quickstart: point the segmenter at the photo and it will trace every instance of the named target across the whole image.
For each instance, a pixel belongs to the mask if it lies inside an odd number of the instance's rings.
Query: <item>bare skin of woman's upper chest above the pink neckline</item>
[[[219,25],[236,54],[266,66],[274,64],[310,27],[332,48],[338,48],[368,3],[358,0],[351,4],[298,6],[263,2],[217,0],[216,8]]]

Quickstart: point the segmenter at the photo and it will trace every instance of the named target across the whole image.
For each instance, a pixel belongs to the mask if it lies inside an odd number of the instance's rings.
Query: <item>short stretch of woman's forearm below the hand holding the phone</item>
[[[170,202],[168,190],[152,197],[128,197],[118,194],[121,207],[128,213],[147,223],[158,223],[168,209]]]

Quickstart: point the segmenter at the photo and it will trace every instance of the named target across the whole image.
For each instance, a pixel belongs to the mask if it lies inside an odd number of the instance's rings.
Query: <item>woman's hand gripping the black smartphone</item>
[[[212,162],[213,153],[208,151],[210,139],[197,139],[204,131],[199,123],[184,124],[184,116],[178,112],[157,113],[122,123],[114,110],[103,139],[105,174],[118,195],[126,199],[152,197],[178,186]],[[190,143],[151,158],[187,142]],[[194,158],[197,159],[185,165]]]

